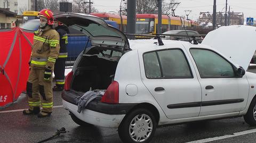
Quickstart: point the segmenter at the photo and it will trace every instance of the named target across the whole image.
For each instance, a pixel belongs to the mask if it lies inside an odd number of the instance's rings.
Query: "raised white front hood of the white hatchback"
[[[247,70],[256,50],[256,27],[226,26],[209,32],[202,44],[225,54],[231,61]]]

